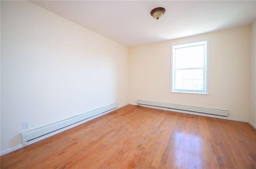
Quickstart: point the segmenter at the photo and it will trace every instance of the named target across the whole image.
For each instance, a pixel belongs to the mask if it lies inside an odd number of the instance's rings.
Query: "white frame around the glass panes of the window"
[[[185,90],[185,89],[176,89],[175,88],[175,49],[179,49],[182,47],[191,47],[197,45],[205,45],[204,50],[204,87],[203,90]],[[182,93],[195,93],[195,94],[208,94],[208,51],[209,51],[209,40],[202,40],[190,43],[182,43],[177,45],[172,45],[172,52],[171,52],[171,92],[182,92]],[[195,68],[189,68],[195,69]]]

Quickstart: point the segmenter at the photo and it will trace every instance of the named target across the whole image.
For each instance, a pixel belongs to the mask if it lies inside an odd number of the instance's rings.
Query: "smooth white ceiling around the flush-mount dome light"
[[[251,24],[254,1],[30,1],[118,43],[133,47]],[[166,13],[150,15],[156,7]]]

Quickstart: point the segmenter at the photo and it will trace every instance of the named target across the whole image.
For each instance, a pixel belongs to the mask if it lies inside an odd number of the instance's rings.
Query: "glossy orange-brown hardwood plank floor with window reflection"
[[[256,130],[128,105],[0,158],[3,169],[256,169]]]

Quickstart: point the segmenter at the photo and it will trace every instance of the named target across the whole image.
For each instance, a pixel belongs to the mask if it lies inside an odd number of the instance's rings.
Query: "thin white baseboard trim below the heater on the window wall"
[[[138,104],[134,104],[134,103],[130,103],[132,105],[138,105]],[[221,118],[221,119],[226,119],[226,120],[233,120],[233,121],[238,121],[238,122],[247,122],[248,120],[244,120],[244,119],[239,119],[239,118],[230,118],[230,117],[224,117],[224,116],[216,116],[216,115],[212,115],[212,114],[202,114],[202,113],[197,113],[197,112],[189,112],[186,110],[176,110],[176,109],[172,109],[172,108],[163,108],[163,107],[156,107],[156,106],[147,106],[147,105],[138,105],[138,106],[142,106],[142,107],[148,107],[148,108],[155,108],[155,109],[160,109],[160,110],[168,110],[168,111],[172,111],[172,112],[179,112],[179,113],[186,113],[186,114],[194,114],[194,115],[198,115],[198,116],[206,116],[206,117],[213,117],[213,118]]]

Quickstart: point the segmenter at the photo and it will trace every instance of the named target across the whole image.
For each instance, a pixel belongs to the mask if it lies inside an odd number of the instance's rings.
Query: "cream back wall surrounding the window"
[[[231,118],[248,120],[250,36],[250,26],[243,26],[130,48],[130,102],[140,99],[222,109]],[[204,39],[209,39],[209,94],[170,92],[171,45]]]

